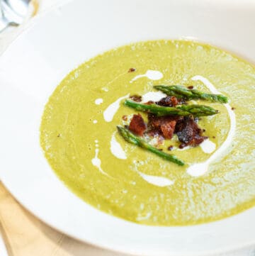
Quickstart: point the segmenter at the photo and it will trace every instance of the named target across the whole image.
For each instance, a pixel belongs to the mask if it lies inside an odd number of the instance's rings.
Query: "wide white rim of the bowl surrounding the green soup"
[[[198,38],[255,61],[255,4],[229,1],[71,1],[45,14],[0,59],[1,180],[18,201],[74,238],[139,255],[214,255],[255,245],[255,208],[186,227],[140,226],[81,201],[39,143],[40,118],[61,79],[98,53],[139,40]]]

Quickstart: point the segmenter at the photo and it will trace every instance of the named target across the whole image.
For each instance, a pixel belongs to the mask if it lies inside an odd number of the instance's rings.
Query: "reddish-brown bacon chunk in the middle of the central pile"
[[[154,116],[149,114],[148,116],[148,126],[151,130],[158,130],[158,133],[162,133],[164,138],[171,139],[174,135],[174,128],[176,126],[176,121],[179,117],[176,116]]]

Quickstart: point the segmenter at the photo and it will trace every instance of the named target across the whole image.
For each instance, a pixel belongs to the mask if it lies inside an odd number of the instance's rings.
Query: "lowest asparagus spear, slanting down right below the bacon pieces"
[[[144,139],[135,136],[127,128],[124,128],[123,126],[117,126],[117,128],[118,128],[118,132],[120,133],[120,135],[123,136],[123,138],[126,141],[128,141],[128,143],[132,143],[141,148],[145,148],[146,150],[153,152],[154,154],[158,155],[159,157],[164,158],[164,160],[174,162],[177,165],[185,165],[185,163],[182,160],[179,160],[175,155],[169,155],[166,152],[163,152],[161,150],[158,150],[157,148],[152,147],[152,145],[149,145],[149,143],[147,143]]]

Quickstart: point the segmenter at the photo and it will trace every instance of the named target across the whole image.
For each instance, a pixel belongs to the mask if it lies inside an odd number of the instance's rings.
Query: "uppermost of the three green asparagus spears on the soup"
[[[207,94],[196,89],[187,89],[181,85],[156,85],[154,88],[158,89],[159,91],[163,91],[169,96],[176,96],[177,99],[203,99],[205,101],[214,101],[220,103],[227,103],[228,101],[227,97],[223,96],[222,94]]]

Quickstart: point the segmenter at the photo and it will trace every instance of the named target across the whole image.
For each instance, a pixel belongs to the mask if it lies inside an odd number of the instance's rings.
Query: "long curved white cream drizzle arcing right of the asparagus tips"
[[[217,89],[213,86],[213,84],[210,83],[210,81],[208,79],[206,79],[205,77],[197,75],[195,77],[192,77],[192,80],[203,82],[203,84],[205,84],[205,86],[208,87],[208,89],[210,89],[210,91],[213,94],[220,94],[220,92],[217,91]],[[224,105],[225,105],[225,108],[227,108],[227,112],[228,112],[229,118],[230,118],[230,129],[229,129],[229,133],[227,135],[227,139],[225,140],[224,143],[222,143],[220,148],[218,148],[214,152],[214,154],[212,154],[208,158],[208,160],[206,160],[205,162],[193,164],[190,167],[188,167],[187,172],[188,172],[188,174],[190,174],[193,177],[199,177],[199,176],[205,174],[205,172],[208,172],[208,167],[209,167],[210,163],[213,160],[216,160],[217,157],[220,157],[220,155],[222,155],[222,153],[229,147],[229,145],[232,142],[232,138],[234,137],[234,131],[236,128],[236,118],[235,118],[234,111],[232,111],[232,109],[231,109],[231,106],[229,104],[224,104]]]

